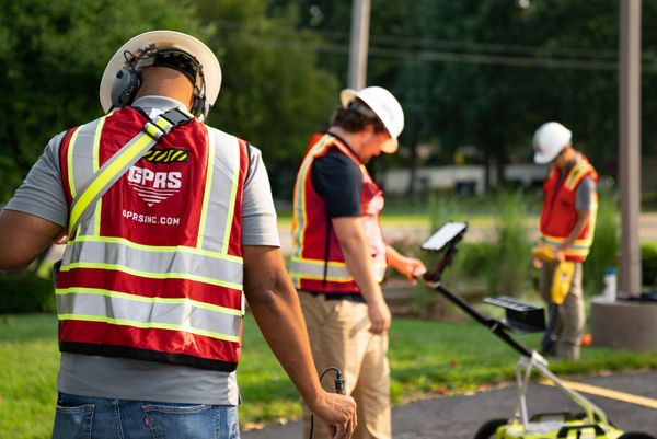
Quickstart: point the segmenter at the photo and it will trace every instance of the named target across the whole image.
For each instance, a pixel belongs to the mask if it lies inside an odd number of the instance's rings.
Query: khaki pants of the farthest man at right
[[[554,264],[545,263],[541,270],[541,296],[548,304],[552,305],[552,279]],[[556,320],[551,336],[554,339],[554,356],[557,358],[579,358],[581,332],[586,323],[584,314],[584,298],[581,292],[581,263],[575,263],[573,282],[564,302],[556,308]]]

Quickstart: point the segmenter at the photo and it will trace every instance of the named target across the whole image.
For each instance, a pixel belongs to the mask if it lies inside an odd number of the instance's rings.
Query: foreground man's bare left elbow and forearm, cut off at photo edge
[[[0,211],[0,269],[27,267],[61,232],[61,226],[15,210]]]

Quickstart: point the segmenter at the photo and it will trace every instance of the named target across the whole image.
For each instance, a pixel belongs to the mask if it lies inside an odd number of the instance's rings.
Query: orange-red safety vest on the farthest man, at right
[[[541,212],[541,241],[544,245],[555,250],[563,243],[577,223],[578,213],[575,209],[575,192],[581,181],[588,176],[598,182],[598,173],[586,157],[570,167],[568,174],[558,184],[562,171],[553,167],[545,183],[543,192],[543,211]],[[598,194],[592,194],[591,217],[575,243],[565,252],[566,261],[584,262],[589,254],[596,230],[598,212]]]

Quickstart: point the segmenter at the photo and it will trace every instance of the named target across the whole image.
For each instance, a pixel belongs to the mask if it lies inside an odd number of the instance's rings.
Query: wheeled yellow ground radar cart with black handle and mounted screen
[[[442,272],[450,265],[457,253],[457,244],[463,239],[466,230],[468,223],[465,222],[448,222],[422,245],[425,251],[441,254],[435,268],[424,275],[424,280],[520,354],[516,366],[518,401],[512,417],[486,421],[479,429],[474,439],[655,439],[646,434],[623,432],[615,428],[600,407],[566,386],[558,377],[552,373],[548,369],[545,358],[537,351],[528,350],[509,335],[509,332],[544,331],[545,321],[542,308],[532,307],[514,298],[487,298],[484,299],[485,302],[503,307],[506,310],[506,320],[489,319],[440,282]],[[532,370],[552,381],[583,409],[583,413],[556,412],[534,414],[530,417],[527,408],[527,390]]]

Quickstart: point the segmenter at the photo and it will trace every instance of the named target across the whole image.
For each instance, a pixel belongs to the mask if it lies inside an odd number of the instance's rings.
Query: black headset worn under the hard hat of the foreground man
[[[135,95],[141,86],[140,70],[142,68],[162,66],[175,69],[189,78],[194,84],[194,99],[189,112],[200,120],[207,117],[210,105],[206,100],[203,66],[194,56],[174,48],[157,49],[152,45],[141,50],[138,55],[126,50],[124,56],[126,62],[116,72],[110,94],[114,108],[122,108],[132,103]]]

